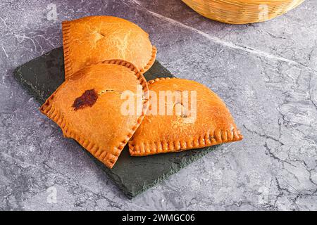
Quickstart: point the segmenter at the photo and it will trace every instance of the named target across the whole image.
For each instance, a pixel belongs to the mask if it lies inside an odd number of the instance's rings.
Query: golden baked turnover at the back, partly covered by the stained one
[[[113,58],[127,60],[142,73],[155,61],[149,34],[128,20],[99,15],[62,25],[66,80],[86,65]]]

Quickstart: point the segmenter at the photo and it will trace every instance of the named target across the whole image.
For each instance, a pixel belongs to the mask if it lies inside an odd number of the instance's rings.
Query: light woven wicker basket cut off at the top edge
[[[282,15],[304,0],[182,0],[197,13],[223,23],[257,23]],[[316,0],[314,0],[316,1]]]

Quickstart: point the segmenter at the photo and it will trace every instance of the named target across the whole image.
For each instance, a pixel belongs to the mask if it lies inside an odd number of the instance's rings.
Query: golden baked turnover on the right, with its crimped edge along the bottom
[[[129,141],[130,155],[170,153],[242,140],[225,103],[203,84],[177,78],[158,78],[148,84],[149,110]]]

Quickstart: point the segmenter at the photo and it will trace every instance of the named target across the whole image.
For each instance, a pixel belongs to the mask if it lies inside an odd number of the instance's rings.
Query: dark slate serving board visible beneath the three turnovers
[[[42,104],[63,83],[63,62],[63,48],[60,47],[19,66],[13,74],[18,82]],[[150,80],[156,77],[173,77],[173,75],[156,60],[144,77]],[[216,148],[212,146],[180,153],[132,157],[129,155],[127,145],[113,169],[108,169],[84,148],[82,150],[90,155],[128,198],[133,198]]]

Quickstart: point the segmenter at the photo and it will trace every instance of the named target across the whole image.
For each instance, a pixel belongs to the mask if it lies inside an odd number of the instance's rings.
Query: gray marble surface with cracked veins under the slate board
[[[317,210],[317,1],[253,25],[217,23],[176,0],[0,8],[1,210]],[[244,140],[128,200],[12,75],[61,46],[62,20],[85,15],[149,32],[168,70],[223,98]]]

